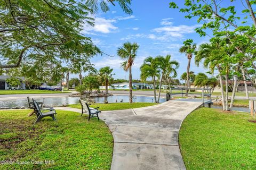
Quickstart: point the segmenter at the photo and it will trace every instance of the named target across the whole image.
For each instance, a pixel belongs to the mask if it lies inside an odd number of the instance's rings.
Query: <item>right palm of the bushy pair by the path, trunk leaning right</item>
[[[171,73],[174,73],[174,77],[177,76],[176,69],[179,68],[179,62],[177,62],[175,60],[171,60],[171,55],[166,55],[165,57],[157,56],[155,58],[155,60],[157,62],[157,65],[158,65],[159,69],[162,72],[161,79],[160,79],[160,84],[159,84],[158,99],[157,99],[157,103],[159,103],[163,78],[166,75],[169,76]]]

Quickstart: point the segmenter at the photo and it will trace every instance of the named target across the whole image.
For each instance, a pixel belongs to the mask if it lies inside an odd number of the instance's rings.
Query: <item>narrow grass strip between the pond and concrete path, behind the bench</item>
[[[110,103],[110,104],[93,104],[91,107],[100,107],[100,111],[114,111],[129,108],[147,107],[157,105],[156,103]],[[68,105],[73,108],[81,108],[80,104]]]

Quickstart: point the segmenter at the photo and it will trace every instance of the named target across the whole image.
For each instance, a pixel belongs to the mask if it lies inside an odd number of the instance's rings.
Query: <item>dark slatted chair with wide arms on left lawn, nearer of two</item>
[[[54,121],[57,121],[57,113],[52,107],[41,109],[37,101],[34,99],[33,99],[33,104],[34,104],[34,111],[36,113],[36,117],[33,120],[33,126],[35,125],[36,122],[40,121],[43,117],[46,117],[46,116],[50,116]]]

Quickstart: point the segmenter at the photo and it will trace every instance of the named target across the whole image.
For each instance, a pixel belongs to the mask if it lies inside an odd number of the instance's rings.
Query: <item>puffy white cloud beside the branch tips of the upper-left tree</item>
[[[110,33],[118,29],[118,27],[113,25],[114,22],[116,22],[116,20],[97,17],[94,20],[94,27],[85,25],[83,32],[91,33],[90,31],[95,31],[101,33]]]

